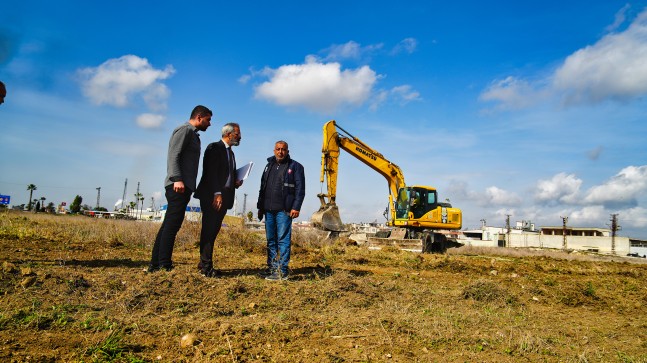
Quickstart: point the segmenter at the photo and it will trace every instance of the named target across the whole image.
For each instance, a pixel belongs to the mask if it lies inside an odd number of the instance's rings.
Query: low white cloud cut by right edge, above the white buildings
[[[590,204],[635,205],[647,192],[647,165],[628,166],[606,183],[588,190],[584,201]]]

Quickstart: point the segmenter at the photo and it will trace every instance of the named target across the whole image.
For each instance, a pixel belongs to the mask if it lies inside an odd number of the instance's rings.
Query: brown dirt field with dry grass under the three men
[[[0,361],[647,362],[644,259],[296,231],[291,278],[272,282],[263,234],[229,227],[209,279],[196,223],[174,271],[144,273],[157,228],[1,212]]]

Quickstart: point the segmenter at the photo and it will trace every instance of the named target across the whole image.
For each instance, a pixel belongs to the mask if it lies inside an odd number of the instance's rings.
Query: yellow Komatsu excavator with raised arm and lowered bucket
[[[448,202],[440,202],[438,192],[433,187],[407,186],[399,166],[352,136],[335,120],[328,121],[323,127],[321,183],[324,180],[327,182],[328,193],[317,195],[321,207],[311,218],[315,227],[330,231],[333,235],[344,231],[335,201],[340,149],[378,172],[389,184],[389,204],[385,216],[387,225],[392,228],[386,234],[369,238],[369,247],[393,245],[405,250],[444,252],[447,247],[459,245],[449,232],[461,229],[461,210],[453,208]]]

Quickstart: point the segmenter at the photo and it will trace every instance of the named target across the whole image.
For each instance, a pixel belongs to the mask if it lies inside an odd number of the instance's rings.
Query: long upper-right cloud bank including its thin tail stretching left
[[[616,14],[617,29],[628,7]],[[533,106],[556,96],[564,105],[628,101],[647,95],[647,10],[623,31],[569,55],[550,76],[536,81],[506,77],[493,81],[479,100],[495,102],[496,110]]]

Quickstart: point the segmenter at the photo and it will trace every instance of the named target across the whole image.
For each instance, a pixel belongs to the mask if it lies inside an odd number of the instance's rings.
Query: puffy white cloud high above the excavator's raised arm
[[[378,78],[368,66],[342,70],[339,63],[320,63],[312,56],[306,57],[304,64],[266,68],[265,74],[269,80],[256,87],[257,98],[319,112],[363,104]]]

